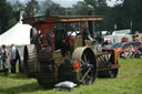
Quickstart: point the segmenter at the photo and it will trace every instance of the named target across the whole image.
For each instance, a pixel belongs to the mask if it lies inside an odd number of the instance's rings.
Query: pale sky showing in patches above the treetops
[[[17,0],[7,0],[7,1],[10,1],[10,2],[14,2]],[[22,3],[26,3],[30,0],[18,0],[19,2],[22,2]],[[37,0],[37,1],[43,1],[43,0]],[[78,1],[83,1],[83,0],[53,0],[54,2],[57,3],[60,3],[62,7],[72,7],[72,4],[75,4]],[[115,1],[115,0],[111,0],[111,2],[108,1],[108,4],[110,7],[113,7],[114,4],[116,3],[120,3],[119,1]]]

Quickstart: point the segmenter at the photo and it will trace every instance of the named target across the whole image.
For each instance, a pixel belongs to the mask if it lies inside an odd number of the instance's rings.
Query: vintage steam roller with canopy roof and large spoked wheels
[[[102,18],[92,15],[24,19],[24,24],[32,25],[31,44],[24,45],[24,73],[45,87],[63,81],[90,85],[97,76],[116,77],[115,51],[98,51],[88,35],[88,22],[99,20]]]

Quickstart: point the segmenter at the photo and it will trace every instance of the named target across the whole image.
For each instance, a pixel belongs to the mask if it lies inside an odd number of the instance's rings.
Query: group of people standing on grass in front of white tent
[[[3,72],[6,76],[9,75],[9,70],[11,70],[11,73],[16,73],[19,52],[14,44],[11,44],[10,50],[8,50],[6,45],[0,46],[0,71]]]

